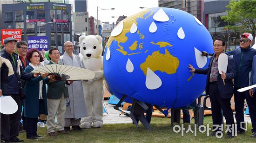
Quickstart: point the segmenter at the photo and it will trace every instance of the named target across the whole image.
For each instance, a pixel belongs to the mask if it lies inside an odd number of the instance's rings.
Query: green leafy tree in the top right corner
[[[230,0],[227,16],[222,16],[222,20],[229,22],[226,28],[235,31],[249,32],[255,39],[256,32],[256,0]]]

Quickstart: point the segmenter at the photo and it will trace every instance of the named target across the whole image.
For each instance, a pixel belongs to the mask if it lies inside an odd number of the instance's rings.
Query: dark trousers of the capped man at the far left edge
[[[10,139],[15,139],[19,136],[19,124],[21,118],[21,100],[20,95],[7,95],[13,97],[13,99],[18,104],[18,110],[10,115],[1,113],[1,140],[10,141]]]

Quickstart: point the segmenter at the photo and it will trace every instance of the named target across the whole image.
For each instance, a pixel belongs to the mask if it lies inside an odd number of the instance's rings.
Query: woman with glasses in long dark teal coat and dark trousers
[[[40,53],[37,49],[30,49],[27,52],[27,60],[29,65],[25,68],[25,72],[31,72],[38,67],[40,63]],[[40,114],[47,113],[47,94],[45,81],[49,80],[48,73],[42,74],[37,78],[28,80],[24,90],[27,97],[24,99],[24,111],[27,118],[26,132],[27,139],[37,139],[43,137],[37,134],[37,122]]]

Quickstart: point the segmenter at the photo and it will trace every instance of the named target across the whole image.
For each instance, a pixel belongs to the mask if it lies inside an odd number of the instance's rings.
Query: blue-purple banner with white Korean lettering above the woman
[[[48,37],[47,36],[31,36],[27,37],[28,49],[36,48],[39,51],[44,49],[48,51]]]

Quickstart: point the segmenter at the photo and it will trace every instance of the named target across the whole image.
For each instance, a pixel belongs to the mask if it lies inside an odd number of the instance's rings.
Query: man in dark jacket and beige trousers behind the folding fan
[[[49,50],[49,58],[51,59],[48,65],[61,64],[60,51],[58,48],[52,48]],[[57,115],[57,127],[58,133],[67,134],[64,130],[64,115],[66,111],[66,99],[68,97],[67,84],[72,84],[73,81],[57,81],[50,79],[47,83],[47,133],[49,136],[55,136],[55,116]]]

